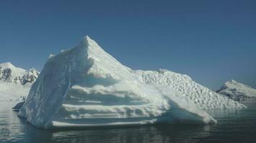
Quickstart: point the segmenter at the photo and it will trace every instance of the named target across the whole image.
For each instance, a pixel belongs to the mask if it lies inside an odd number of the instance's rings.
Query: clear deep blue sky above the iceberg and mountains
[[[88,35],[132,69],[256,87],[256,1],[0,1],[0,62],[42,69]]]

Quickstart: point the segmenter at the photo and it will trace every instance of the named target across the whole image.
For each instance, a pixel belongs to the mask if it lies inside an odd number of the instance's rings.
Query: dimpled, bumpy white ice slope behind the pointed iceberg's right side
[[[185,74],[178,74],[166,69],[159,71],[133,71],[141,77],[142,82],[147,84],[154,84],[157,87],[170,87],[177,91],[182,97],[188,99],[196,104],[200,109],[227,109],[227,108],[241,108],[244,105],[234,102],[211,89],[197,84],[191,77]]]

